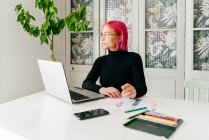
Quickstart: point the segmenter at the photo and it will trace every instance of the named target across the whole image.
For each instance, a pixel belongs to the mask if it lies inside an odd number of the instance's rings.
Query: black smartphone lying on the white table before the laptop
[[[74,113],[74,115],[79,120],[86,120],[86,119],[95,118],[95,117],[99,117],[99,116],[104,116],[104,115],[108,115],[108,114],[109,114],[109,112],[102,109],[102,108]]]

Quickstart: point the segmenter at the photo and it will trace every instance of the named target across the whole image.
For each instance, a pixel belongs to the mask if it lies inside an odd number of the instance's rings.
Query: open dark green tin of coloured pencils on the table
[[[183,120],[180,118],[147,109],[130,116],[123,125],[131,129],[169,138],[182,123]]]

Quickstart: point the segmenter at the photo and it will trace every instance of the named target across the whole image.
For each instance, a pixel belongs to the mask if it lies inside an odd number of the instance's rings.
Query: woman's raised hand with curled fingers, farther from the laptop
[[[129,97],[129,98],[135,98],[136,97],[136,89],[129,83],[124,84],[121,86],[122,88],[122,96]]]

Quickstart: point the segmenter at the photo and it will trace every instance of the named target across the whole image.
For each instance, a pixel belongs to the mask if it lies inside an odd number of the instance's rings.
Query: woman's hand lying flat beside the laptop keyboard
[[[111,97],[111,98],[121,97],[120,91],[114,87],[101,87],[99,89],[99,93],[103,95],[107,95],[108,97]]]

